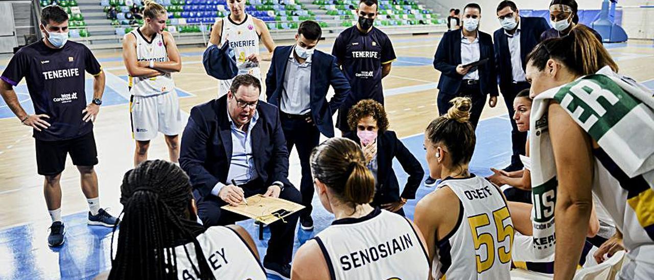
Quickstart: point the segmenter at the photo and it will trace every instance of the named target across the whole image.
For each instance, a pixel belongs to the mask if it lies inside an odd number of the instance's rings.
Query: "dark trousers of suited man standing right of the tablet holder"
[[[520,155],[525,155],[525,145],[527,143],[527,132],[518,131],[518,126],[513,120],[513,99],[515,96],[522,90],[530,88],[528,82],[518,82],[517,84],[511,84],[509,88],[506,88],[502,91],[502,96],[504,96],[504,103],[506,103],[506,109],[509,110],[509,119],[511,120],[511,148],[513,154],[511,154],[511,165],[513,166],[523,166],[523,163],[520,161]]]

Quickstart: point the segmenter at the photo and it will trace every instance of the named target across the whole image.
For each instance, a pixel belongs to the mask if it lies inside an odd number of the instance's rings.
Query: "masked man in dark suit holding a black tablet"
[[[479,31],[481,7],[475,3],[463,10],[463,28],[445,33],[434,55],[434,68],[441,71],[438,80],[438,113],[445,114],[454,97],[468,96],[472,99],[470,123],[477,126],[479,116],[490,95],[489,105],[497,102],[497,77],[492,38]],[[478,66],[464,65],[488,59]]]

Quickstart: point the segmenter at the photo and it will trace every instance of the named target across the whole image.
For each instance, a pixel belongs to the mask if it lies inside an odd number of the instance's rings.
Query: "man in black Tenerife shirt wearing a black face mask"
[[[357,24],[343,30],[332,49],[352,86],[352,93],[338,110],[336,127],[342,133],[350,130],[347,112],[358,101],[374,99],[384,104],[381,79],[390,73],[390,64],[396,60],[388,35],[372,26],[377,18],[377,0],[360,0],[356,14]]]

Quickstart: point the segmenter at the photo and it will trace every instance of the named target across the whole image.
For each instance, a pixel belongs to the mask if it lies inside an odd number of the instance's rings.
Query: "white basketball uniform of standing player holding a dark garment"
[[[230,47],[234,50],[236,65],[239,68],[238,75],[250,74],[261,81],[259,64],[245,59],[252,54],[259,54],[259,34],[256,33],[252,16],[246,14],[245,20],[241,24],[235,24],[230,16],[222,18],[220,46],[226,41],[230,42]],[[232,80],[220,80],[218,97],[227,94],[230,86],[232,86]]]

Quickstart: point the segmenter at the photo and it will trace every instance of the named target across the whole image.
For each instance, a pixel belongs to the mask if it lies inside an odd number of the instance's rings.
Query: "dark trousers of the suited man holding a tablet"
[[[449,92],[439,92],[438,99],[436,103],[438,104],[438,114],[443,115],[447,114],[447,110],[452,107],[452,103],[449,103],[450,100],[455,97],[470,97],[472,99],[472,109],[470,110],[470,123],[474,128],[477,128],[477,122],[479,122],[479,117],[481,116],[481,111],[483,111],[484,106],[486,105],[486,95],[481,94],[481,89],[479,84],[465,84],[462,83],[457,93]]]

